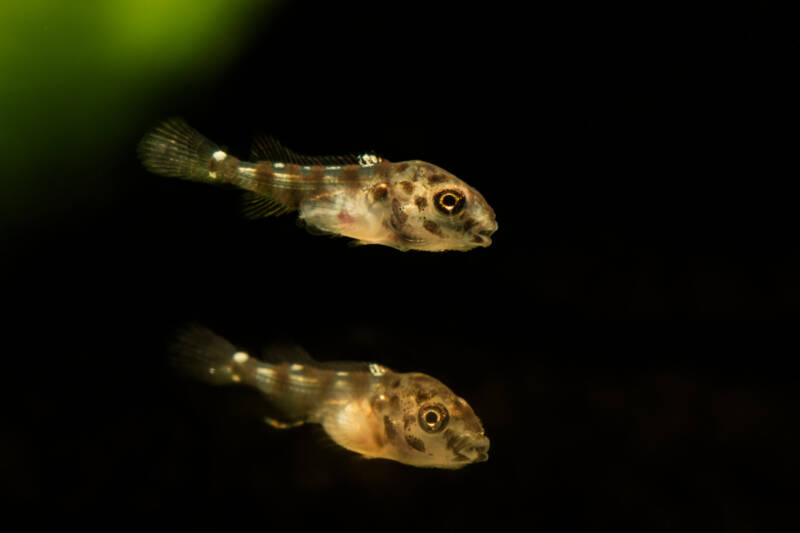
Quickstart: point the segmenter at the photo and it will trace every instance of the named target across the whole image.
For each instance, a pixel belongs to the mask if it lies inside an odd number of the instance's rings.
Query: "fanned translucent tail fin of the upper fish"
[[[150,172],[195,181],[213,181],[208,165],[217,151],[219,146],[180,118],[156,126],[137,147],[142,164]]]

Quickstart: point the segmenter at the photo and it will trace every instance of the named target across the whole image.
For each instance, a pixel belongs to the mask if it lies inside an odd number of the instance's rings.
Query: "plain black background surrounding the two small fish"
[[[135,136],[87,154],[113,195],[9,242],[7,501],[197,530],[789,529],[788,29],[744,3],[559,6],[290,3],[142,117],[242,157],[269,133],[431,161],[495,209],[488,249],[351,247],[147,174]],[[436,376],[490,460],[415,469],[277,432],[258,394],[170,372],[187,321]]]

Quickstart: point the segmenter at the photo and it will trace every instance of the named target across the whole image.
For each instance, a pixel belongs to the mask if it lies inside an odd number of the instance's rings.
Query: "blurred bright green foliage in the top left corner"
[[[91,161],[119,149],[169,88],[222,75],[274,3],[0,2],[0,235],[113,179]]]

